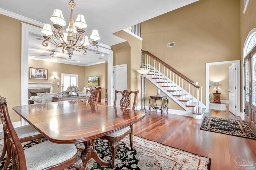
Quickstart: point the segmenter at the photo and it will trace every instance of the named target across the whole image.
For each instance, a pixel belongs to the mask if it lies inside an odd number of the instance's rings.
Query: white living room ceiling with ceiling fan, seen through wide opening
[[[48,43],[47,47],[43,47],[42,41],[43,39],[40,35],[32,34],[32,33],[29,34],[29,38],[28,38],[29,59],[37,59],[37,60],[39,59],[43,61],[52,62],[50,60],[50,53],[52,53],[52,50],[56,51],[54,53],[58,55],[58,57],[66,58],[66,60],[57,59],[58,60],[57,63],[86,66],[86,65],[95,64],[95,63],[104,63],[108,59],[108,56],[104,53],[87,50],[86,56],[84,56],[82,52],[74,51],[74,54],[72,55],[72,58],[70,60],[66,53],[62,53],[62,48],[56,47],[51,43]],[[46,56],[41,56],[41,55],[46,55]],[[102,59],[99,59],[99,58],[102,58]],[[78,61],[80,62],[78,63]]]

